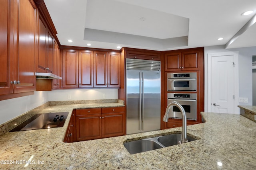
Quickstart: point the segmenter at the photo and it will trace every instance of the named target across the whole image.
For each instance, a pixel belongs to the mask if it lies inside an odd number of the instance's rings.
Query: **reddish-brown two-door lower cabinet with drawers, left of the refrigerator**
[[[75,141],[125,135],[124,107],[76,109],[75,124]]]

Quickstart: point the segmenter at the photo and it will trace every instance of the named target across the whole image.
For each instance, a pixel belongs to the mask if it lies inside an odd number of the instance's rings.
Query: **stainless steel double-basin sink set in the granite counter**
[[[124,147],[128,150],[130,154],[136,154],[140,152],[146,152],[149,150],[170,147],[172,145],[178,145],[180,144],[180,140],[181,134],[175,133],[170,135],[126,142],[124,143]],[[188,135],[188,142],[195,140],[197,139]]]

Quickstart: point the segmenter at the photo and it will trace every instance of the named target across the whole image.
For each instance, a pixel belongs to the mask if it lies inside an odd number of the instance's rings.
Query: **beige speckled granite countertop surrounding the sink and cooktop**
[[[71,112],[79,107],[83,106],[49,106],[42,112]],[[125,141],[176,133],[182,128],[76,143],[62,142],[68,121],[60,128],[8,132],[0,136],[0,169],[256,169],[255,122],[236,114],[203,112],[202,117],[206,123],[187,129],[188,135],[199,140],[132,155],[124,147]]]

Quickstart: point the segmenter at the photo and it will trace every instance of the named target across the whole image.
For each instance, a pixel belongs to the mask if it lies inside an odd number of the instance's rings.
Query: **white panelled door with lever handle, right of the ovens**
[[[210,110],[215,113],[238,113],[238,55],[220,53],[211,55]],[[237,76],[237,77],[236,77]],[[208,110],[209,110],[208,109]]]

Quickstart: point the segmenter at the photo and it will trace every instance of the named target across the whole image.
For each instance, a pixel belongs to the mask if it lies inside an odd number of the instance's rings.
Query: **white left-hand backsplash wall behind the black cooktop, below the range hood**
[[[0,101],[0,125],[48,102],[48,92]]]

